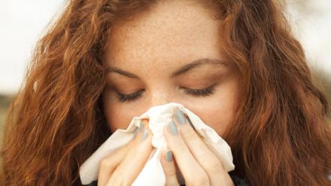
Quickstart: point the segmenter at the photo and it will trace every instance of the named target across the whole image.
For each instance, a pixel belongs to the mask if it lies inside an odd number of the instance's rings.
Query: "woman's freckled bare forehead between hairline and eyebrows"
[[[110,32],[108,65],[137,63],[165,65],[219,58],[219,20],[212,11],[192,1],[161,1],[131,21],[116,23]]]

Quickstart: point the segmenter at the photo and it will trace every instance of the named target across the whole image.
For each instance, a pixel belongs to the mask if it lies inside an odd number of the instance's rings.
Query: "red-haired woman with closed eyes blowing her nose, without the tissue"
[[[79,165],[112,132],[168,102],[214,128],[235,169],[225,172],[190,125],[178,132],[187,123],[178,113],[164,130],[167,185],[179,184],[177,171],[187,185],[330,185],[328,101],[282,9],[271,0],[70,1],[12,104],[3,185],[80,185]],[[140,130],[101,161],[98,185],[132,183],[152,149]]]

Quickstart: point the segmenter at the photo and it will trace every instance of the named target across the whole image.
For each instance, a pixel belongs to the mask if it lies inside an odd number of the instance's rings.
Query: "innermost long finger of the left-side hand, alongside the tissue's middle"
[[[145,126],[141,125],[141,132],[134,139],[135,145],[130,148],[126,157],[117,167],[117,174],[110,176],[107,185],[116,185],[114,183],[131,185],[148,161],[152,152],[152,133],[148,128],[148,123],[145,122],[145,124]]]

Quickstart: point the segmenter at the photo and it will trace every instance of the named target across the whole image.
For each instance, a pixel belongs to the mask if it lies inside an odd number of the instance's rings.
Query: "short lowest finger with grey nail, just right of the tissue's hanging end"
[[[171,150],[167,149],[162,153],[161,164],[165,174],[165,186],[179,185],[176,176],[176,167],[174,165],[174,158],[172,157]]]

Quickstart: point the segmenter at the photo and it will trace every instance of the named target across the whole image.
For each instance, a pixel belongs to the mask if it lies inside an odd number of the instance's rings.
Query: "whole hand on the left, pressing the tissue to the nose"
[[[148,120],[143,120],[143,123],[145,125],[137,128],[137,135],[130,143],[101,160],[98,186],[132,185],[153,149]]]

